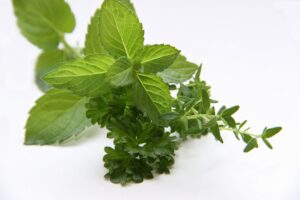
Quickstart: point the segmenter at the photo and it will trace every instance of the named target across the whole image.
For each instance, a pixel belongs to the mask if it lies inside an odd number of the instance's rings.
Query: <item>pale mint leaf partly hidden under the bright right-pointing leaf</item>
[[[179,55],[169,68],[157,75],[166,83],[182,83],[192,78],[197,68],[196,64],[186,61],[184,56]]]

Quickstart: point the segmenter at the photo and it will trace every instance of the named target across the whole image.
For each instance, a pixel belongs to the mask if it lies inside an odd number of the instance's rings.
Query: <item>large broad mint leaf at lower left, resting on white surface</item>
[[[87,98],[52,89],[36,101],[26,124],[25,144],[61,143],[79,135],[90,121],[85,116]]]

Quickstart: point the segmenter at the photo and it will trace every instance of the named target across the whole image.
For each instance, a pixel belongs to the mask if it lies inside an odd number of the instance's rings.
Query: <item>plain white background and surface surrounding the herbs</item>
[[[77,28],[68,40],[83,45],[99,0],[69,0]],[[171,175],[127,187],[105,181],[105,130],[63,147],[23,146],[27,112],[41,93],[33,82],[39,50],[15,25],[9,0],[0,0],[0,200],[300,199],[300,1],[133,0],[146,43],[169,43],[204,63],[213,97],[239,104],[237,118],[254,131],[284,127],[249,154],[231,133],[224,144],[208,136],[185,143]],[[259,133],[259,132],[258,132]]]

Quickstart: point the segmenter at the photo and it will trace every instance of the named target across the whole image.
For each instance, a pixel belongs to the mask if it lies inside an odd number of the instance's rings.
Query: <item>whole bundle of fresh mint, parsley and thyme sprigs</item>
[[[105,0],[88,26],[85,47],[64,39],[75,18],[64,0],[13,0],[22,34],[43,52],[36,80],[46,93],[31,109],[25,144],[50,145],[98,124],[114,147],[103,158],[113,183],[142,182],[170,173],[175,151],[186,139],[230,131],[245,142],[244,152],[280,127],[253,134],[233,115],[239,106],[222,106],[196,65],[166,44],[145,45],[144,30],[129,0]],[[60,48],[62,47],[62,48]],[[42,77],[42,79],[41,79]],[[173,91],[171,95],[171,92]]]

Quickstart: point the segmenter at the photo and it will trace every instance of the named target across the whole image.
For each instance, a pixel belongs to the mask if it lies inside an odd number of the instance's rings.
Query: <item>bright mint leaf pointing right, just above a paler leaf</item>
[[[177,58],[179,50],[170,45],[145,46],[142,56],[144,72],[157,73],[168,68]]]

